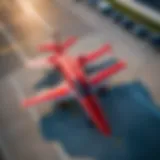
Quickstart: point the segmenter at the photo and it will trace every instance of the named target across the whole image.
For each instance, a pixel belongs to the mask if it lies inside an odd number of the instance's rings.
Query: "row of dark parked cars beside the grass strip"
[[[111,17],[117,24],[126,30],[150,42],[154,47],[160,48],[160,33],[152,32],[146,26],[137,24],[123,13],[112,8],[112,5],[102,0],[87,0],[90,6],[94,6],[105,16]]]

